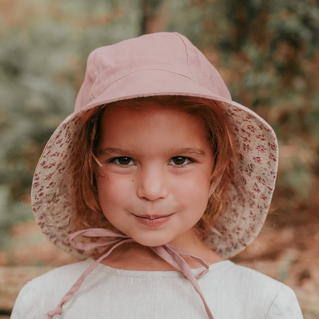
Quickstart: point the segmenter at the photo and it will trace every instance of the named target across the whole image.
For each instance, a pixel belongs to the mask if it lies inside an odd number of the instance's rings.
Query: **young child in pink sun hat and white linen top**
[[[183,35],[94,50],[36,168],[42,232],[84,261],[20,291],[11,319],[300,319],[288,286],[227,260],[266,219],[268,123]]]

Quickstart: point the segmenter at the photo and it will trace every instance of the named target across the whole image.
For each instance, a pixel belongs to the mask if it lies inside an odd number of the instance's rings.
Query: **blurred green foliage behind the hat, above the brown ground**
[[[88,54],[143,33],[187,36],[233,100],[276,131],[277,189],[291,201],[318,195],[317,0],[4,0],[0,18],[0,246],[12,223],[32,219],[35,166],[73,111]]]

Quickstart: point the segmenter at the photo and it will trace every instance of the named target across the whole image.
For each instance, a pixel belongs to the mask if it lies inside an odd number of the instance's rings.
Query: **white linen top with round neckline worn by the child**
[[[85,269],[85,261],[53,269],[20,291],[11,319],[45,319]],[[205,267],[192,269],[199,274]],[[197,279],[214,319],[302,319],[293,290],[230,260]],[[99,263],[55,319],[206,319],[204,304],[180,271],[131,271]]]

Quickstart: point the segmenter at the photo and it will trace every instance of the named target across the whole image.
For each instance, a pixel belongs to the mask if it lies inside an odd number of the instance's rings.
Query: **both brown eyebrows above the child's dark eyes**
[[[129,157],[138,157],[141,155],[141,153],[136,151],[128,151],[128,150],[124,150],[122,148],[116,148],[116,147],[104,147],[98,151],[98,155],[103,157],[112,156],[114,154],[125,154],[126,156],[129,156]],[[198,147],[176,147],[165,152],[164,155],[167,157],[172,157],[173,155],[175,156],[187,155],[189,157],[192,157],[192,156],[205,157],[206,152]]]

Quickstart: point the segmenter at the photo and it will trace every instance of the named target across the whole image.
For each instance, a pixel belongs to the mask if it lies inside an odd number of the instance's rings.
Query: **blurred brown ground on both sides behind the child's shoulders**
[[[305,319],[319,319],[319,222],[280,226],[266,222],[257,239],[231,258],[290,286]],[[48,270],[78,261],[44,240],[35,222],[14,226],[12,249],[0,252],[0,319],[9,318],[22,286]]]

